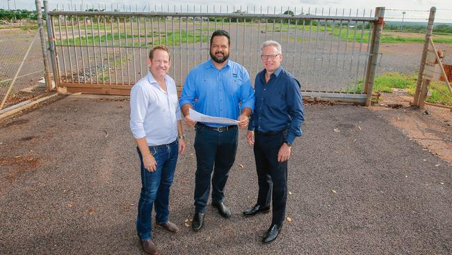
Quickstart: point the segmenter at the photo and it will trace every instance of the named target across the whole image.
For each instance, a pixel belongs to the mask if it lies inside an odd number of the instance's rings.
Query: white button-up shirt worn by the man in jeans
[[[166,91],[151,72],[140,79],[130,93],[130,130],[136,139],[146,137],[148,146],[170,144],[177,139],[181,111],[174,79],[165,76]]]

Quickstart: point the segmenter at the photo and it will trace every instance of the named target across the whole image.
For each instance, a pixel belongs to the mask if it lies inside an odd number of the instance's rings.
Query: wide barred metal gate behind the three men
[[[253,82],[261,70],[259,45],[276,40],[303,96],[369,105],[385,8],[367,16],[284,13],[50,11],[56,82],[72,92],[129,94],[147,72],[149,49],[167,45],[169,75],[181,89],[191,68],[209,59],[211,33],[225,29],[230,59]]]

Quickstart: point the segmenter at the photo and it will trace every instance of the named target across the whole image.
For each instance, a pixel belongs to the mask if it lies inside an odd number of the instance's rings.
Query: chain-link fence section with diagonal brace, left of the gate
[[[0,110],[46,93],[44,75],[38,29],[0,29]]]

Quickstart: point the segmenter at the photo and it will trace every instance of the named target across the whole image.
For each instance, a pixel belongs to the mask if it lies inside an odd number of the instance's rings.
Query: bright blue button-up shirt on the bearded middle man
[[[212,60],[197,65],[185,79],[179,105],[193,106],[195,111],[214,117],[239,118],[243,108],[255,105],[250,75],[247,70],[231,60],[218,70]],[[221,127],[216,123],[206,123]]]

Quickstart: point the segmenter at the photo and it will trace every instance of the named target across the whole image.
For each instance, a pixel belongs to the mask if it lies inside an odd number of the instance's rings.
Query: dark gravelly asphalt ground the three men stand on
[[[257,196],[245,132],[227,183],[232,217],[209,207],[202,231],[184,226],[195,172],[186,128],[170,198],[181,232],[154,230],[161,254],[452,253],[451,165],[364,107],[305,111],[289,163],[291,222],[275,242],[260,242],[270,214],[242,216]],[[127,98],[72,95],[1,123],[0,254],[143,254],[128,115]]]

